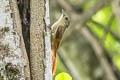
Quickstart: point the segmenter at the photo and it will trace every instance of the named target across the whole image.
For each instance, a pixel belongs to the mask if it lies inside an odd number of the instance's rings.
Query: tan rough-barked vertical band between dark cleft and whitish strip
[[[31,0],[30,65],[32,80],[44,80],[44,0]]]

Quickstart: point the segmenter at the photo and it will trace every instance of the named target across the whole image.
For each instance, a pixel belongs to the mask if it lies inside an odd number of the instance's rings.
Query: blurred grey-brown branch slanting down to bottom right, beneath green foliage
[[[101,66],[103,67],[106,73],[108,80],[117,80],[115,74],[112,71],[111,65],[104,56],[103,49],[101,48],[95,37],[92,36],[92,34],[88,31],[86,27],[81,28],[80,32],[90,42],[91,46],[93,47],[96,56],[98,57]]]

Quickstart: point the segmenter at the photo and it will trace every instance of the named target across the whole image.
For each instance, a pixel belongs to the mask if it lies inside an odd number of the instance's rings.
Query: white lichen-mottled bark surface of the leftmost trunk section
[[[0,80],[25,80],[21,39],[12,14],[9,0],[0,0]]]

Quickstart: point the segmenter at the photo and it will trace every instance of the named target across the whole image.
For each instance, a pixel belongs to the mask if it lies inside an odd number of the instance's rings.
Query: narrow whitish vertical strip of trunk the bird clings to
[[[52,80],[52,53],[51,53],[51,32],[49,30],[50,19],[49,19],[49,0],[45,0],[45,80]]]

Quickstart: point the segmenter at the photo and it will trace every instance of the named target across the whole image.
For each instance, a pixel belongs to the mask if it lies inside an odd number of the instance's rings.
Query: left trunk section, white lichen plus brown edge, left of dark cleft
[[[0,0],[0,80],[29,80],[16,0]]]

